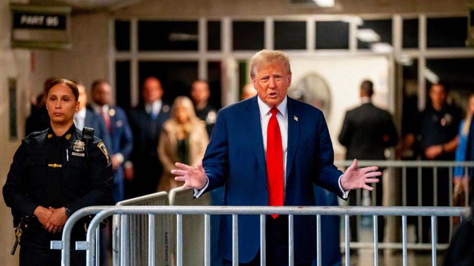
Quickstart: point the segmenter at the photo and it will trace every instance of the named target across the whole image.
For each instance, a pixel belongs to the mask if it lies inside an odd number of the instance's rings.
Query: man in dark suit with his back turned
[[[347,148],[347,160],[386,160],[385,149],[398,142],[392,116],[372,104],[373,83],[364,80],[360,85],[362,105],[349,110],[344,118],[339,142]],[[376,203],[382,205],[382,182],[376,185]],[[356,197],[349,198],[349,205],[356,205]],[[356,216],[351,216],[351,240],[357,241]],[[384,217],[378,217],[379,241],[384,237]]]

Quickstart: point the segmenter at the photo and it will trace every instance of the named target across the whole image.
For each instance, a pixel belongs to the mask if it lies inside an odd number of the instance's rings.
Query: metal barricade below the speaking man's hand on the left
[[[206,193],[198,199],[193,199],[193,189],[182,189],[181,187],[174,188],[169,191],[169,205],[174,206],[207,206],[210,204],[210,193]],[[172,256],[171,260],[177,253],[176,250],[176,217],[170,215],[172,219],[170,224],[170,245]],[[204,263],[204,246],[199,243],[204,241],[204,217],[202,215],[184,215],[182,217],[183,235],[183,249],[186,254],[183,254],[183,265],[186,266],[201,266]],[[176,262],[172,261],[172,265]]]

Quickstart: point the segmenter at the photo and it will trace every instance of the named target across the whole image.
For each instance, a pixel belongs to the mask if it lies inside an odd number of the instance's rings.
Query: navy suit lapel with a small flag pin
[[[296,149],[298,148],[298,138],[300,136],[300,122],[301,117],[298,115],[296,110],[295,100],[288,97],[288,148],[286,158],[286,179],[291,172],[291,166],[293,166],[293,160],[295,159]]]

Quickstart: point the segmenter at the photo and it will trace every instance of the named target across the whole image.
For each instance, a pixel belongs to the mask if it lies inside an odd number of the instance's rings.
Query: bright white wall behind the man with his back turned
[[[385,56],[291,58],[292,87],[309,74],[317,73],[327,82],[331,94],[331,111],[326,120],[336,159],[344,159],[346,148],[339,141],[346,111],[360,105],[359,88],[364,79],[374,83],[373,102],[389,106],[389,62]]]

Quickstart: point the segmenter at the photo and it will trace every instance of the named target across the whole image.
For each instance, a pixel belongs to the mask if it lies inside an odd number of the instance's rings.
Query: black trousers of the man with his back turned
[[[379,171],[383,171],[384,169],[380,169]],[[374,183],[375,184],[375,203],[377,206],[382,206],[382,196],[383,196],[383,185],[382,185],[382,177],[380,176],[379,178],[379,183]],[[360,202],[362,202],[362,191],[360,190]],[[349,206],[356,206],[357,205],[357,192],[352,191],[351,194],[349,195],[348,203]],[[369,192],[369,197],[372,199],[372,194],[374,192],[371,191]],[[372,200],[370,201],[370,204],[372,204]],[[358,241],[357,239],[357,216],[352,215],[349,216],[349,224],[351,227],[351,241],[356,242]],[[377,235],[378,235],[378,241],[382,242],[384,240],[384,226],[385,226],[385,217],[384,216],[378,216],[377,217]]]

